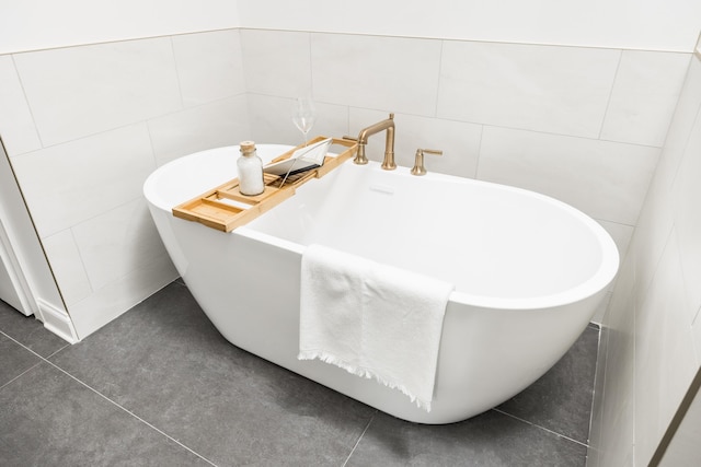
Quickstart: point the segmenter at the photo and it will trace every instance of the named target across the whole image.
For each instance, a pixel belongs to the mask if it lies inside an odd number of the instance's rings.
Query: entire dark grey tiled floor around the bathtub
[[[420,425],[231,346],[177,281],[74,346],[0,302],[0,465],[584,466],[597,343],[590,326],[514,399]]]

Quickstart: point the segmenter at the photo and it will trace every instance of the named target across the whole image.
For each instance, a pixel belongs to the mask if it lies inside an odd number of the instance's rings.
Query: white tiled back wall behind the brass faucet
[[[621,255],[664,143],[690,54],[242,30],[254,137],[298,143],[291,97],[318,103],[314,135],[395,113],[397,159],[440,149],[429,171],[533,189],[597,219]],[[371,140],[369,157],[382,154]],[[596,320],[600,322],[604,308]]]

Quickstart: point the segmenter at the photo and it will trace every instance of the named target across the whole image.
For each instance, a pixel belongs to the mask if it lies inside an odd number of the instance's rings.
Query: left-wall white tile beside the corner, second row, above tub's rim
[[[148,125],[159,166],[193,152],[251,138],[245,95],[169,114]]]

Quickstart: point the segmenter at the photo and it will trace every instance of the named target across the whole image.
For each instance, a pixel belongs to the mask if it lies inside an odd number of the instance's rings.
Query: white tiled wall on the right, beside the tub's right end
[[[701,365],[701,54],[604,320],[589,466],[646,466]]]

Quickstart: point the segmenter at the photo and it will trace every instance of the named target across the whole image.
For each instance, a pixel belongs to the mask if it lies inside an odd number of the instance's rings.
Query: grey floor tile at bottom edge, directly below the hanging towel
[[[379,412],[347,466],[584,466],[586,447],[495,410],[422,425]]]

